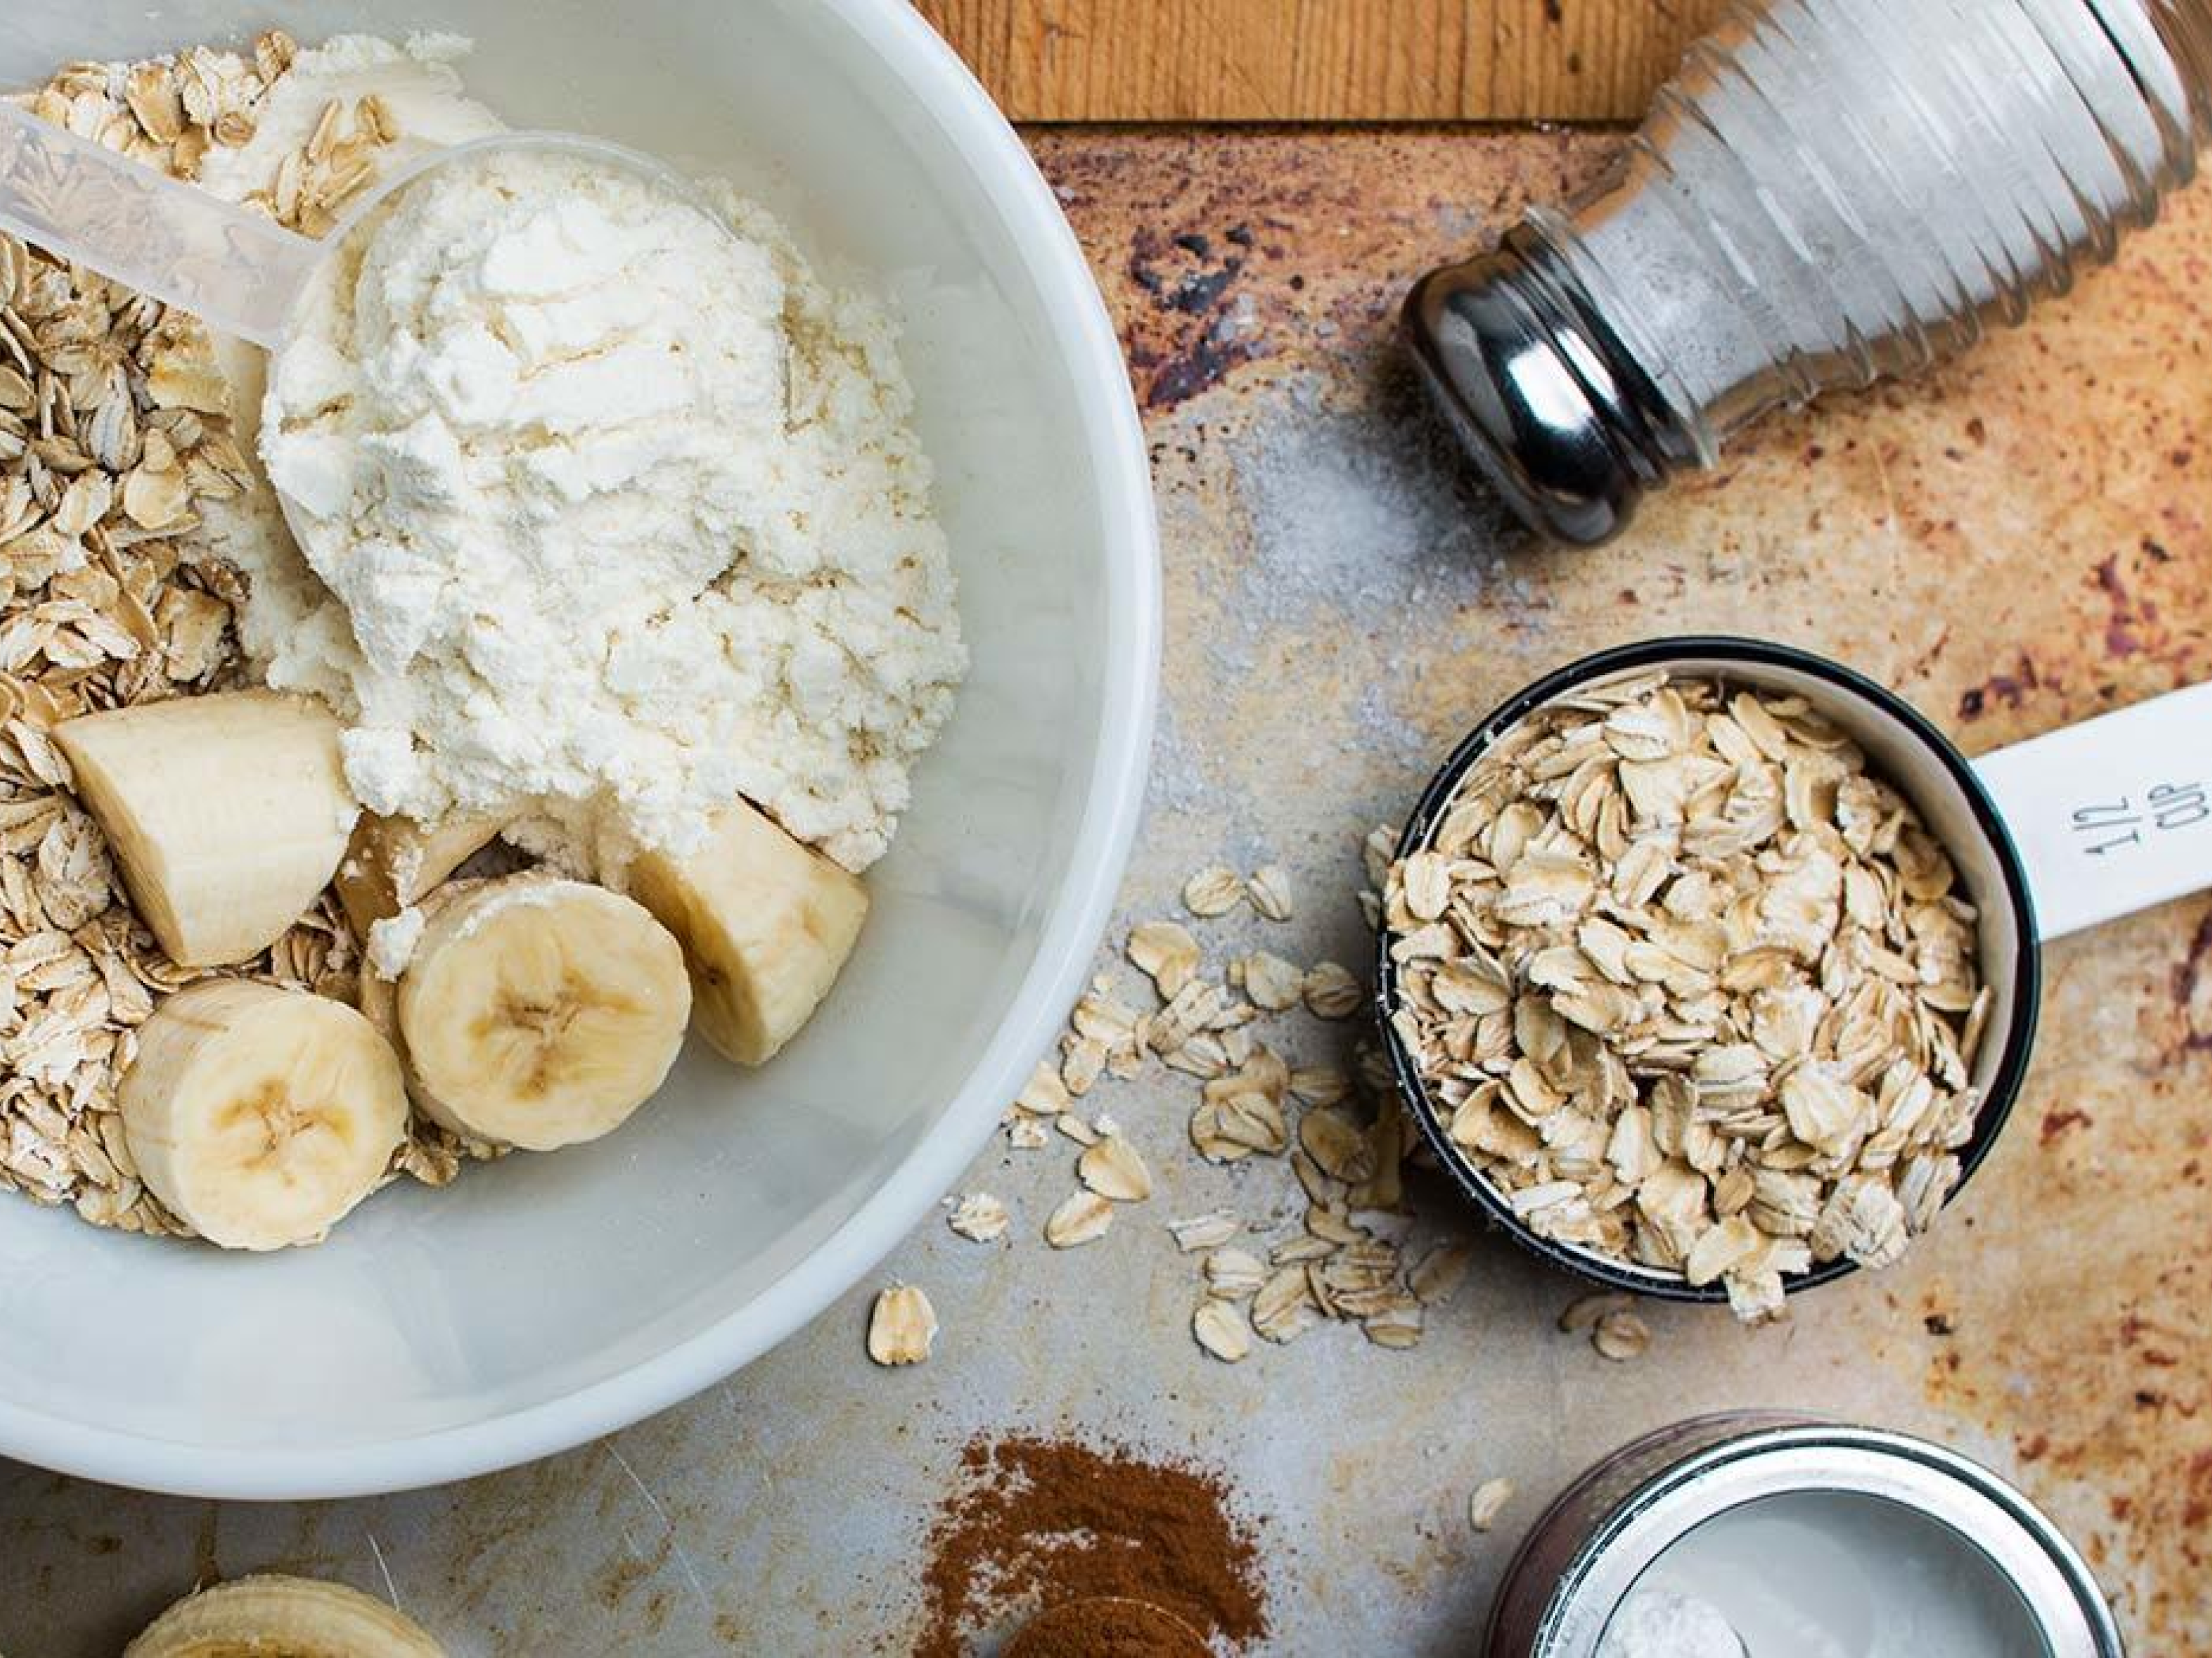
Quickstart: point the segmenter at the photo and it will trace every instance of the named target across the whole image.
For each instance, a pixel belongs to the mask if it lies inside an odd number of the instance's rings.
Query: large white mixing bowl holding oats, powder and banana
[[[226,1256],[0,1196],[0,1452],[219,1497],[542,1457],[745,1364],[951,1185],[1079,993],[1144,794],[1159,564],[1075,239],[905,0],[7,7],[0,84],[283,24],[473,35],[518,126],[734,179],[905,316],[973,674],[834,999],[772,1068],[688,1054],[619,1134],[394,1187]]]

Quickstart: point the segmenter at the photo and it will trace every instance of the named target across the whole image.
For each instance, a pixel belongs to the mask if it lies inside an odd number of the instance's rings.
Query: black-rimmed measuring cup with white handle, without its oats
[[[2042,990],[2037,946],[2212,884],[2212,683],[2154,696],[2048,736],[1969,760],[1896,692],[1809,650],[1763,639],[1679,637],[1601,650],[1526,685],[1453,749],[1422,791],[1398,858],[1436,836],[1460,783],[1522,718],[1608,681],[1663,668],[1803,696],[1856,741],[1869,769],[1905,794],[1942,842],[1980,911],[1978,966],[1991,990],[1969,1081],[1982,1094],[1960,1147],[1958,1196],[1989,1156],[2028,1072]],[[1394,935],[1380,933],[1376,1001],[1398,1092],[1438,1163],[1522,1247],[1608,1289],[1719,1302],[1721,1284],[1644,1267],[1540,1236],[1449,1134],[1451,1110],[1429,1094],[1391,1026],[1398,1012]],[[1790,1293],[1854,1271],[1836,1258],[1783,1280]]]

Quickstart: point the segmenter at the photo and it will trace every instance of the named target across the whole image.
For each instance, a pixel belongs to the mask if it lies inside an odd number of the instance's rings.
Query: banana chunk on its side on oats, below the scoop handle
[[[221,692],[53,730],[124,884],[184,966],[250,962],[330,884],[361,807],[338,721],[305,696]]]

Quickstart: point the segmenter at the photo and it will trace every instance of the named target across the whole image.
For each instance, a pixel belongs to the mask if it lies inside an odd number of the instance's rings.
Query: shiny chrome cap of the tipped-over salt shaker
[[[1537,535],[1597,546],[1670,471],[1663,405],[1520,225],[1422,276],[1400,332],[1467,453]],[[1663,418],[1663,416],[1661,416]]]

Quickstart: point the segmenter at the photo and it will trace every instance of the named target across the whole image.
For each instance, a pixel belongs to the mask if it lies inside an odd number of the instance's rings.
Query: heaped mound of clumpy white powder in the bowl
[[[310,296],[261,427],[303,546],[228,550],[248,654],[338,710],[369,809],[515,816],[602,875],[741,794],[885,851],[967,665],[911,393],[880,307],[723,208],[460,164]]]

